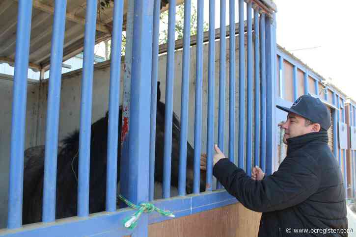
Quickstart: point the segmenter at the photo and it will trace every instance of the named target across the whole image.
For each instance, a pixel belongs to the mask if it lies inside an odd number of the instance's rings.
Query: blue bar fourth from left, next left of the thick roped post
[[[121,72],[121,70],[118,69],[121,69],[123,9],[124,1],[116,0],[113,9],[113,28],[111,37],[106,211],[116,211],[117,144]]]

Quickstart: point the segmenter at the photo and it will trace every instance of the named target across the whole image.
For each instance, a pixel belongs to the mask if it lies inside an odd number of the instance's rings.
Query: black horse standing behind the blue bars
[[[158,83],[155,184],[163,182],[164,154],[164,103],[160,102],[161,91]],[[119,110],[121,128],[122,107]],[[171,186],[178,187],[180,123],[173,113]],[[119,138],[121,129],[119,129]],[[119,139],[120,140],[120,139]],[[63,146],[58,147],[56,180],[56,219],[77,215],[79,131],[66,137]],[[107,176],[108,112],[106,116],[91,125],[89,212],[105,210]],[[194,150],[188,143],[186,192],[192,193]],[[118,144],[117,182],[120,181],[121,145]],[[44,172],[44,146],[32,147],[25,151],[23,224],[42,220]],[[205,190],[205,173],[201,172],[200,191]]]

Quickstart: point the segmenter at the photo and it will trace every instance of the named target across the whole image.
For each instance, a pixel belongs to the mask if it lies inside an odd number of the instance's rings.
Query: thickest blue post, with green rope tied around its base
[[[135,204],[148,201],[152,27],[153,0],[135,0],[128,180],[128,199]],[[133,237],[148,236],[147,214],[136,228]]]

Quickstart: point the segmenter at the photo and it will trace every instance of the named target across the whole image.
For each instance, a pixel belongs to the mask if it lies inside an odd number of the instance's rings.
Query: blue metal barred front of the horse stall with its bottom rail
[[[205,1],[206,2],[206,1]],[[163,197],[165,200],[153,201],[154,192],[154,154],[156,103],[158,74],[158,29],[160,0],[130,1],[126,21],[127,51],[126,63],[129,75],[124,85],[124,106],[128,110],[124,119],[129,118],[128,130],[122,141],[120,192],[133,203],[152,201],[156,206],[173,211],[177,217],[190,215],[235,203],[223,189],[213,188],[212,159],[213,144],[229,158],[238,161],[239,167],[250,174],[252,165],[260,165],[267,174],[273,172],[275,156],[274,128],[276,120],[274,105],[276,100],[276,43],[274,4],[261,0],[229,0],[229,34],[226,33],[226,0],[220,0],[220,54],[219,54],[219,113],[218,139],[215,131],[215,0],[209,1],[209,56],[208,56],[208,122],[207,122],[207,172],[206,192],[199,194],[200,153],[202,133],[202,86],[203,86],[203,0],[197,0],[196,36],[196,78],[194,111],[194,181],[193,195],[186,195],[187,179],[187,134],[189,71],[190,71],[190,18],[191,0],[185,0],[182,103],[180,118],[180,164],[179,198],[170,198],[172,120],[173,120],[173,82],[175,54],[175,0],[169,0],[168,51],[165,86],[164,123],[164,177]],[[224,149],[225,131],[225,86],[226,86],[226,36],[229,35],[229,98],[235,98],[235,2],[239,13],[239,110],[238,135],[235,134],[235,99],[229,100],[228,109],[228,149]],[[267,2],[267,3],[266,3]],[[168,217],[156,214],[143,214],[134,230],[125,229],[121,220],[133,214],[132,209],[116,209],[116,173],[118,118],[120,98],[120,57],[121,34],[123,26],[123,0],[115,0],[113,7],[113,28],[110,63],[110,100],[108,128],[108,162],[106,211],[89,214],[89,168],[90,132],[92,110],[93,61],[96,32],[97,0],[87,0],[84,37],[84,59],[82,70],[82,97],[79,146],[78,176],[78,216],[55,220],[56,202],[56,163],[58,144],[58,120],[61,87],[61,62],[66,19],[66,0],[55,0],[54,25],[52,35],[50,86],[48,92],[48,113],[45,146],[45,171],[42,223],[22,226],[22,195],[24,170],[24,137],[27,93],[27,69],[31,32],[31,0],[19,0],[16,35],[16,58],[14,76],[14,97],[12,112],[10,182],[8,198],[7,229],[0,230],[0,236],[147,236],[148,225],[164,221]],[[246,7],[246,30],[244,9]],[[252,14],[253,9],[253,14]],[[252,15],[254,16],[252,24]],[[132,24],[132,25],[130,25]],[[253,27],[252,27],[253,26]],[[131,30],[131,31],[130,31]],[[246,37],[245,37],[246,32]],[[131,36],[130,36],[131,35]],[[253,37],[254,36],[254,40]],[[245,39],[246,38],[246,39]],[[131,40],[131,41],[130,41]],[[246,43],[245,43],[246,40]],[[245,60],[246,44],[246,60]],[[243,47],[240,47],[243,46]],[[253,54],[253,56],[252,56]],[[246,71],[245,71],[246,68]],[[126,76],[126,75],[125,75]],[[126,78],[126,77],[125,77]],[[247,89],[245,94],[245,82]],[[254,86],[253,86],[254,84]],[[254,91],[253,91],[254,88]],[[246,97],[246,99],[245,99]],[[246,109],[245,109],[246,102]],[[252,113],[254,108],[254,137],[252,137]],[[150,118],[150,119],[147,119]],[[246,132],[245,132],[246,128]],[[235,140],[238,139],[238,157],[235,154]],[[252,147],[254,141],[254,147]],[[245,145],[246,144],[246,145]],[[254,159],[252,158],[254,157]],[[146,188],[149,187],[149,188]],[[218,184],[217,189],[221,185]],[[215,190],[215,191],[213,191]]]

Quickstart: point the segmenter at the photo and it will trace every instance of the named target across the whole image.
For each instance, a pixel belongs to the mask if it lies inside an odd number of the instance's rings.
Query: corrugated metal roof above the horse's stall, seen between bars
[[[127,12],[124,3],[124,22]],[[178,0],[177,4],[183,0]],[[32,0],[32,22],[29,67],[48,70],[51,56],[52,25],[55,0]],[[111,37],[112,9],[98,4],[96,43]],[[162,11],[167,9],[167,5]],[[13,64],[16,47],[17,0],[0,0],[0,61]],[[63,61],[83,50],[86,0],[67,0],[67,18]]]

